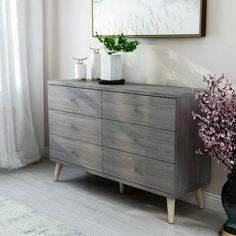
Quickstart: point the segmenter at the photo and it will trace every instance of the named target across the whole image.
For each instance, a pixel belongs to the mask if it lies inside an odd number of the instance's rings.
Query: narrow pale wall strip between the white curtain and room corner
[[[27,0],[28,74],[32,119],[38,145],[44,147],[43,1]]]

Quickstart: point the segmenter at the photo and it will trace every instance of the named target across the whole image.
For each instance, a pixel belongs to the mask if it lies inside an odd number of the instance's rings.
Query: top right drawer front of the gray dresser
[[[175,99],[104,92],[103,102],[105,119],[175,130]]]

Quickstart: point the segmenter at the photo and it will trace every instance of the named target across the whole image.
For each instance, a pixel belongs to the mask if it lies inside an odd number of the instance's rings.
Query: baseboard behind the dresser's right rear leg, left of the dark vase
[[[213,193],[203,192],[203,199],[205,208],[224,213],[224,208],[221,203],[221,196]],[[196,198],[194,193],[187,194],[183,198],[180,198],[180,200],[196,205]]]

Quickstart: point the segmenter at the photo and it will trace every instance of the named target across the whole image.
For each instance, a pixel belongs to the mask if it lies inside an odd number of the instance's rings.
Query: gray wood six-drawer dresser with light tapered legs
[[[209,181],[209,159],[200,145],[190,88],[72,80],[48,82],[50,158],[55,180],[62,164],[167,198],[169,223],[175,199]]]

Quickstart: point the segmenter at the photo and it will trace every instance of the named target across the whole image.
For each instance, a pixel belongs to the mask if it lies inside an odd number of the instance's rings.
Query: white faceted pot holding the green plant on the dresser
[[[101,55],[101,79],[108,81],[122,79],[121,55]]]

